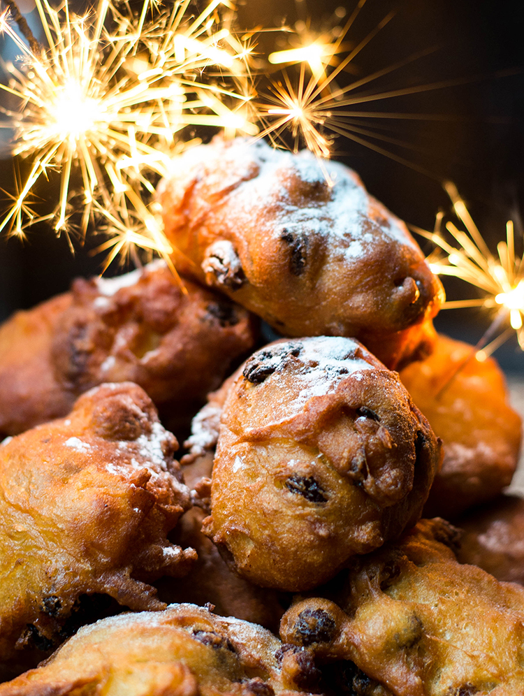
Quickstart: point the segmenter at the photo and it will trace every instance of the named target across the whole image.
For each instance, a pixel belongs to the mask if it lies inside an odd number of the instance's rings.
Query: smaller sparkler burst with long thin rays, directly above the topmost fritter
[[[291,131],[294,150],[298,150],[300,143],[305,143],[316,157],[321,158],[330,157],[335,137],[343,136],[416,171],[433,176],[425,168],[394,154],[387,147],[406,147],[407,143],[378,133],[370,129],[367,123],[370,122],[369,119],[433,119],[438,116],[367,111],[362,105],[440,89],[451,83],[417,85],[371,94],[359,92],[362,87],[371,85],[375,80],[427,55],[432,49],[423,50],[363,78],[354,79],[348,85],[340,86],[337,82],[344,71],[351,71],[352,61],[386,27],[395,14],[388,13],[361,41],[354,43],[351,50],[347,50],[349,44],[343,42],[364,5],[365,0],[358,0],[344,27],[338,27],[340,31],[336,41],[328,41],[325,34],[314,36],[309,28],[304,27],[303,35],[298,37],[301,43],[298,48],[270,55],[269,59],[274,64],[300,63],[300,74],[297,80],[293,80],[284,72],[283,79],[272,81],[267,101],[257,103],[264,126],[259,137],[268,136],[275,146],[286,147],[285,135]]]

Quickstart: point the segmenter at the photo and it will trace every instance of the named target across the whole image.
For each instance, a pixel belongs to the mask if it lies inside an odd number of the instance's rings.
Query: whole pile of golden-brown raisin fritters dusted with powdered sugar
[[[0,696],[521,696],[521,420],[405,224],[242,138],[157,203],[183,287],[0,327]]]

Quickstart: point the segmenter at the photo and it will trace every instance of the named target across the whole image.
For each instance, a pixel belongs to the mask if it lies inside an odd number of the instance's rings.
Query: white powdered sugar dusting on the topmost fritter
[[[235,214],[244,215],[246,221],[252,224],[253,219],[264,217],[265,208],[270,208],[270,233],[275,237],[280,237],[284,227],[291,234],[321,235],[342,249],[345,258],[351,263],[362,259],[366,247],[377,237],[377,228],[372,228],[369,224],[372,219],[383,238],[419,251],[405,224],[367,193],[354,171],[338,162],[319,162],[309,150],[292,154],[275,150],[263,140],[249,143],[243,138],[234,140],[220,154],[224,169],[227,162],[231,161],[231,171],[236,172],[238,178],[249,168],[249,161],[259,167],[256,177],[242,181],[233,190],[231,196]],[[205,163],[209,157],[209,146],[203,145],[184,152],[175,160],[175,164],[178,171],[190,171],[199,160]],[[293,181],[293,177],[290,177],[293,171],[296,173],[295,182],[298,177],[298,180],[310,184],[314,190],[328,187],[324,172],[333,185],[329,187],[327,196],[316,198],[314,194],[306,197],[293,195],[288,188],[289,182]]]

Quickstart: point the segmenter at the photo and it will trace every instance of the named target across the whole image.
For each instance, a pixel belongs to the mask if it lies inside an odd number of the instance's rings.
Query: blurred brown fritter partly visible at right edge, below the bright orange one
[[[524,499],[500,495],[460,518],[457,557],[497,578],[524,585]]]

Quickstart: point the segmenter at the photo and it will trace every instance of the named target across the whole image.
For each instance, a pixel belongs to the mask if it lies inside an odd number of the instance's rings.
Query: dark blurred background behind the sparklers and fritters
[[[353,1],[247,0],[239,8],[240,25],[276,27],[299,17],[313,26],[328,20],[338,6],[348,12]],[[431,229],[435,212],[449,210],[442,180],[451,179],[493,252],[504,238],[509,217],[516,223],[522,254],[524,213],[524,3],[466,0],[367,0],[349,35],[361,41],[390,10],[397,14],[354,61],[357,78],[373,73],[425,48],[435,50],[361,92],[379,92],[449,80],[455,84],[411,96],[367,103],[363,109],[423,113],[432,119],[369,119],[370,127],[405,142],[386,145],[427,174],[398,164],[351,140],[339,138],[337,159],[361,174],[372,194],[407,222]],[[343,20],[342,20],[343,22]],[[261,48],[275,50],[275,35]],[[343,79],[343,78],[342,78]],[[354,79],[351,76],[348,80]],[[261,83],[261,90],[265,85]],[[0,95],[0,100],[3,96]],[[377,129],[381,129],[378,131]],[[10,189],[12,163],[0,160],[0,187]],[[419,240],[426,252],[431,247]],[[34,228],[27,242],[0,240],[0,319],[17,308],[64,291],[75,275],[100,270],[100,258],[78,248],[71,255],[64,238],[45,226]],[[117,269],[115,269],[115,272]],[[458,281],[444,279],[451,299],[479,296]],[[476,342],[490,323],[486,310],[445,310],[440,330]],[[524,353],[516,339],[496,354],[508,372],[524,372]]]

